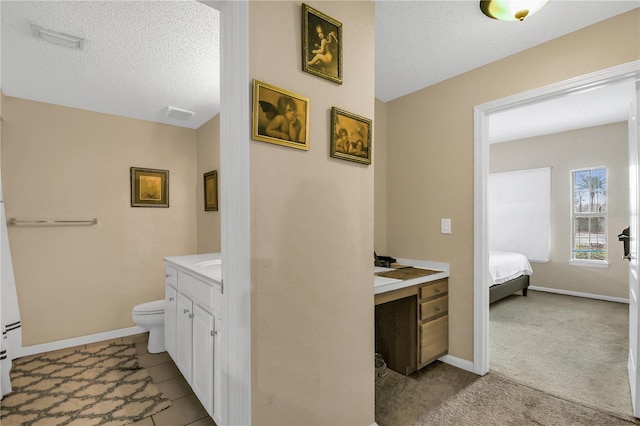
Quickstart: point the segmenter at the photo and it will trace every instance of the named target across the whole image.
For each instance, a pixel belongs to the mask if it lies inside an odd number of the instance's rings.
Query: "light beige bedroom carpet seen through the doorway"
[[[529,291],[491,305],[490,371],[551,395],[632,416],[629,306]]]

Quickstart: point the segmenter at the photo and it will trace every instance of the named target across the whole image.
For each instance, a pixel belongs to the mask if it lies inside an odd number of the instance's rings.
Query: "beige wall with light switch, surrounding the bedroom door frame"
[[[473,359],[473,107],[638,60],[639,20],[635,9],[387,103],[388,252],[450,264],[451,355]]]

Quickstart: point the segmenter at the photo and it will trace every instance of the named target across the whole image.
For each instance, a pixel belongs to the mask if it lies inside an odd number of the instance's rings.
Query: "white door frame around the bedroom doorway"
[[[489,175],[489,116],[582,90],[640,78],[640,61],[586,74],[474,108],[473,213],[473,371],[489,372],[489,248],[487,246],[487,180]],[[635,94],[634,94],[635,96]]]

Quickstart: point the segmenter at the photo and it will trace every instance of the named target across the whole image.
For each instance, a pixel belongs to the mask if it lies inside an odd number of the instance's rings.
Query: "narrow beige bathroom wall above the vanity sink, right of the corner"
[[[220,210],[204,211],[204,174],[218,171],[220,188],[220,115],[216,115],[198,129],[198,159],[196,212],[198,220],[198,253],[219,253]],[[220,195],[218,194],[218,202]],[[218,209],[220,206],[218,205]]]

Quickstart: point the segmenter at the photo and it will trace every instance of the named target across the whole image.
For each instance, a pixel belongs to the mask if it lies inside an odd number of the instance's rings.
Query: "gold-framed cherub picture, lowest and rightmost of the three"
[[[331,156],[371,164],[371,120],[331,108]]]

